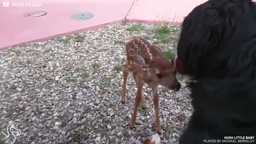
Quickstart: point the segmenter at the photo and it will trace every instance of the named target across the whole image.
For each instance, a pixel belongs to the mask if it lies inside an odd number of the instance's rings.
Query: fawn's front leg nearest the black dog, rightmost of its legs
[[[158,96],[158,86],[153,87],[153,103],[154,103],[154,110],[155,110],[155,126],[156,132],[160,133],[161,129],[161,122],[159,118],[159,96]]]

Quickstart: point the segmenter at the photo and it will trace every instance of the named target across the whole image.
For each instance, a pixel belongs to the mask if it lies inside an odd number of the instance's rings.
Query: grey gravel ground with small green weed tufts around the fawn
[[[14,124],[21,131],[14,143],[141,143],[155,133],[153,101],[145,85],[147,108],[130,129],[136,88],[129,75],[122,105],[123,44],[144,37],[175,51],[179,27],[168,29],[164,35],[164,26],[121,23],[0,51],[0,131]],[[159,89],[162,143],[177,143],[191,115],[179,80],[179,92]]]

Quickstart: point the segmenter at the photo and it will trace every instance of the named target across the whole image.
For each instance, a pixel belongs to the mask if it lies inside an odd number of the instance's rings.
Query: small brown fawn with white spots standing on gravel
[[[125,44],[127,62],[123,67],[123,86],[121,102],[126,99],[126,79],[129,73],[132,73],[137,85],[137,94],[135,96],[134,111],[130,121],[130,127],[134,127],[139,104],[142,108],[146,107],[145,99],[142,95],[142,86],[144,83],[153,91],[153,103],[155,110],[156,131],[161,132],[161,123],[159,119],[159,100],[158,85],[162,85],[169,90],[179,91],[181,85],[176,78],[176,70],[171,61],[169,61],[164,52],[155,45],[151,45],[146,39],[136,38]]]

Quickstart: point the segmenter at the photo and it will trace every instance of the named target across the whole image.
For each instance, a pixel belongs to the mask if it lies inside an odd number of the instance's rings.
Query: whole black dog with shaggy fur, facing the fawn
[[[179,143],[256,143],[256,4],[198,5],[182,23],[177,55],[194,107]]]

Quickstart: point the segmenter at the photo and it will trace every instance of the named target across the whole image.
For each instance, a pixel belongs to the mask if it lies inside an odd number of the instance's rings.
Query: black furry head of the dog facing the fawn
[[[182,23],[175,67],[195,79],[237,75],[256,54],[255,37],[256,8],[251,0],[207,1]]]

